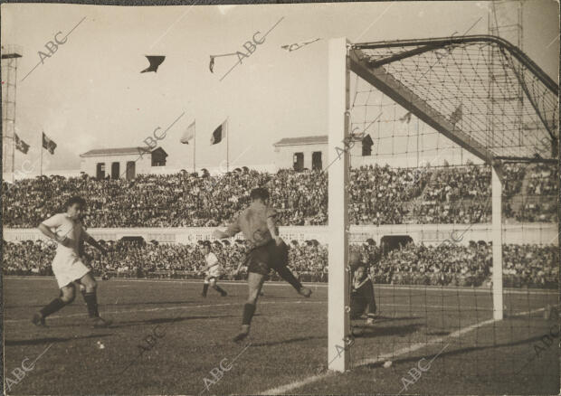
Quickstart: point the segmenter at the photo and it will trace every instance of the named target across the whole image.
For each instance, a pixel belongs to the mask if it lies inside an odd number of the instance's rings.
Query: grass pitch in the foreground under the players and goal
[[[99,285],[100,313],[114,320],[111,327],[91,328],[79,295],[40,329],[30,318],[56,297],[55,280],[4,279],[7,394],[559,391],[557,316],[546,320],[543,310],[558,304],[556,291],[506,290],[506,317],[493,322],[489,290],[376,286],[380,316],[375,325],[359,324],[352,370],[333,373],[326,370],[326,285],[309,286],[314,293],[304,298],[289,285],[266,283],[242,344],[231,339],[241,324],[244,283],[222,282],[229,296],[209,289],[206,298],[196,281]],[[15,369],[38,356],[18,380]],[[222,375],[221,363],[229,368]]]

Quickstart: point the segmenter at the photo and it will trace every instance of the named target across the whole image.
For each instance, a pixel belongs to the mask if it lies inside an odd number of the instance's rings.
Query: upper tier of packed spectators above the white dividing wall
[[[506,214],[525,222],[555,219],[558,173],[551,165],[505,166],[505,196],[529,195]],[[528,175],[527,175],[528,174]],[[528,179],[528,191],[522,181]],[[368,165],[350,174],[350,221],[354,224],[490,222],[490,168],[482,165],[391,168]],[[282,225],[327,224],[327,173],[247,168],[208,173],[138,174],[133,180],[62,176],[3,183],[5,227],[34,228],[71,195],[87,198],[89,227],[214,227],[232,220],[255,186],[271,191]],[[543,201],[542,195],[553,196]]]

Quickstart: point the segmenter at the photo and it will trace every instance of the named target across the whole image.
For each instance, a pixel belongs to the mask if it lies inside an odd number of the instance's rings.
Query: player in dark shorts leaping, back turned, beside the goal
[[[249,296],[243,306],[242,331],[233,338],[236,342],[250,333],[257,299],[271,269],[276,270],[281,278],[289,282],[300,295],[304,297],[311,295],[311,290],[304,288],[287,268],[289,248],[279,236],[277,212],[269,206],[269,192],[264,188],[256,188],[250,193],[250,198],[252,200],[250,206],[240,212],[226,231],[214,231],[214,237],[220,239],[231,238],[242,231],[249,244],[243,263],[247,265]]]

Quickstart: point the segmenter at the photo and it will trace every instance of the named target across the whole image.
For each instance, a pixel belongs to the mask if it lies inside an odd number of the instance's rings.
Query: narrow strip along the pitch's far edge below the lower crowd
[[[41,277],[41,276],[17,276],[17,275],[10,275],[5,276],[5,279],[35,279],[35,280],[45,280],[51,279],[54,281],[54,277]],[[136,279],[136,278],[111,278],[109,281],[100,282],[100,285],[107,284],[107,282],[156,282],[156,283],[176,283],[176,284],[201,284],[203,279]],[[241,280],[220,280],[220,283],[225,285],[239,285],[245,287],[246,284],[244,281]],[[303,285],[313,286],[314,288],[328,288],[328,283],[326,282],[302,282]],[[265,285],[267,286],[275,286],[275,287],[289,287],[290,285],[283,281],[274,281],[274,282],[266,282]],[[385,283],[375,283],[375,288],[382,288],[382,289],[395,289],[395,290],[430,290],[430,291],[453,291],[458,292],[460,290],[461,293],[485,293],[491,294],[491,288],[471,288],[469,286],[446,286],[446,287],[439,287],[439,286],[421,286],[421,285],[388,285]],[[539,288],[528,288],[528,289],[520,289],[520,288],[503,288],[504,294],[535,294],[535,295],[557,295],[559,293],[556,289],[539,289]]]

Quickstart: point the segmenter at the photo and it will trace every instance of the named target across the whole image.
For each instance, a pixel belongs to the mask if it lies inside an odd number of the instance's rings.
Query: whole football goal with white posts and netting
[[[558,387],[556,82],[494,36],[329,50],[329,368],[385,367],[376,392]],[[374,324],[349,317],[349,252]]]

